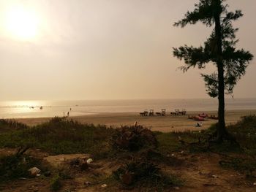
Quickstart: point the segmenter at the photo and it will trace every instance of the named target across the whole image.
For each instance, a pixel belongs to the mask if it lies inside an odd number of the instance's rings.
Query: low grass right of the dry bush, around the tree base
[[[227,126],[230,132],[241,145],[234,146],[230,142],[209,143],[208,138],[217,129],[217,124],[211,125],[208,129],[202,131],[184,131],[161,133],[155,132],[159,142],[159,151],[164,154],[170,154],[181,150],[187,150],[190,153],[206,153],[215,151],[218,153],[245,153],[246,155],[256,155],[256,116],[250,115],[242,117],[235,125]],[[181,140],[186,144],[182,145]]]

